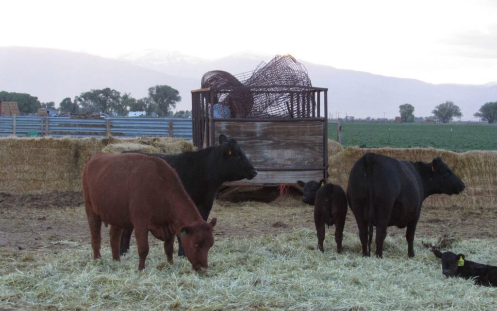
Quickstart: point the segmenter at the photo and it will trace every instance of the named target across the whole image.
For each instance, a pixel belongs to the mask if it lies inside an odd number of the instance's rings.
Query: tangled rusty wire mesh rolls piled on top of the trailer
[[[202,88],[215,91],[215,116],[223,118],[308,117],[309,108],[293,108],[293,103],[305,101],[315,106],[306,87],[312,87],[307,71],[291,55],[276,55],[269,63],[262,62],[242,81],[221,70],[209,71],[202,77]]]

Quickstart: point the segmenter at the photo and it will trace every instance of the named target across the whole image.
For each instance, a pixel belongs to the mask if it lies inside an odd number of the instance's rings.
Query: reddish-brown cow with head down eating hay
[[[112,258],[120,260],[123,228],[135,228],[140,263],[149,253],[148,233],[165,241],[172,263],[174,237],[180,236],[193,269],[208,269],[207,253],[214,244],[212,227],[202,219],[178,175],[166,161],[137,153],[99,153],[83,168],[83,197],[91,233],[93,258],[100,257],[100,227],[110,224]]]

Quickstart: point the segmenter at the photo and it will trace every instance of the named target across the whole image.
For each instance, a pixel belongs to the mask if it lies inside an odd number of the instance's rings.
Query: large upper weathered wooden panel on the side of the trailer
[[[220,134],[235,138],[255,168],[321,168],[324,166],[324,125],[325,122],[319,120],[216,121],[215,135],[216,140]],[[321,174],[322,178],[322,171],[314,173]]]

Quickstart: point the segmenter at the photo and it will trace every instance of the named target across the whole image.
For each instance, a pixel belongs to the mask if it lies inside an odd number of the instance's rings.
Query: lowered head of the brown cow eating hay
[[[210,222],[197,221],[191,225],[182,226],[180,229],[179,238],[186,258],[195,271],[209,269],[207,254],[214,244],[212,228],[216,225],[216,221],[216,218],[212,218]]]

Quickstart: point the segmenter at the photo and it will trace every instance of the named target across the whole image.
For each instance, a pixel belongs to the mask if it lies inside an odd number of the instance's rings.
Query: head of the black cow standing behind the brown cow
[[[220,160],[225,181],[234,182],[245,178],[250,180],[257,175],[257,171],[235,139],[219,135],[218,148],[221,150]]]

